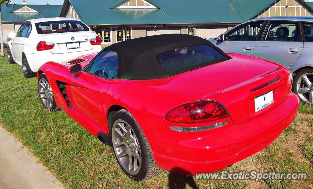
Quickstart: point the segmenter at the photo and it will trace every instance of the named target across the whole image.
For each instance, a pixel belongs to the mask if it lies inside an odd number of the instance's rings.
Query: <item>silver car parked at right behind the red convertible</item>
[[[313,17],[267,17],[249,20],[209,39],[225,52],[277,62],[293,73],[292,90],[313,104]]]

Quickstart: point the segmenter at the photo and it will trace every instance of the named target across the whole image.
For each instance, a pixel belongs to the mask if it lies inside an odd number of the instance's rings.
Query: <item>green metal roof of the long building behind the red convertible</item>
[[[159,8],[110,8],[124,1],[127,0],[69,0],[88,25],[240,23],[251,19],[275,0],[148,0]],[[68,5],[68,0],[64,5]],[[65,11],[66,7],[63,7],[60,16],[65,16]]]

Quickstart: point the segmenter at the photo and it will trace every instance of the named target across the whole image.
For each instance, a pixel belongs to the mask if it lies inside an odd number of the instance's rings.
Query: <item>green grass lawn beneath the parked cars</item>
[[[307,172],[306,181],[197,180],[199,188],[313,188],[313,108],[301,105],[294,123],[268,148],[228,171]],[[168,188],[186,178],[162,172],[140,183],[130,180],[110,147],[102,144],[63,111],[46,111],[37,94],[36,78],[0,58],[0,121],[68,188]]]

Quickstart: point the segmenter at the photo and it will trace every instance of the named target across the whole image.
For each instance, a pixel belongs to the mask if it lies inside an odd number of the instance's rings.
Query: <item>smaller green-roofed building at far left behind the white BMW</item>
[[[17,32],[21,24],[29,19],[57,17],[61,12],[61,5],[28,5],[25,0],[22,4],[2,5],[2,24],[4,43],[7,43],[6,35]]]

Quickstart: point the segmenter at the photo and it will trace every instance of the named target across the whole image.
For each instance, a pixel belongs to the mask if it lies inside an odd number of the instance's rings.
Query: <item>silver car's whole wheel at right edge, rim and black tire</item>
[[[298,94],[302,102],[313,104],[313,69],[306,68],[296,74],[292,91]]]

